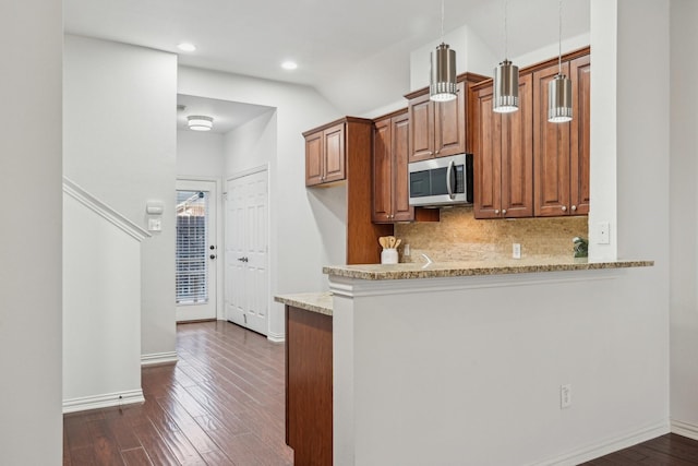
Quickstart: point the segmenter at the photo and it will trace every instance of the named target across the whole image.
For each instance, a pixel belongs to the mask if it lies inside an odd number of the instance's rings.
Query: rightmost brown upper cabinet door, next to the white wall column
[[[575,101],[570,134],[570,214],[589,213],[589,119],[591,57],[580,57],[569,63]]]

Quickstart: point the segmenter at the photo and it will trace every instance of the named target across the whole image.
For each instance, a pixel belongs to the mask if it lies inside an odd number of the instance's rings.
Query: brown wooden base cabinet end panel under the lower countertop
[[[286,306],[286,443],[296,465],[333,463],[332,323]]]

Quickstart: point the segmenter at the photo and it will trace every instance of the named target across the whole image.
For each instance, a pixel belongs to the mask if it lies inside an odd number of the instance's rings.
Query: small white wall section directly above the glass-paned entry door
[[[177,131],[177,176],[220,179],[224,172],[225,134]]]

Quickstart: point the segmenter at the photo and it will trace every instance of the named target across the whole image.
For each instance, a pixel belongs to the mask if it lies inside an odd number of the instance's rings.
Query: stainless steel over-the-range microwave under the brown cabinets
[[[410,205],[472,204],[472,154],[409,164]]]

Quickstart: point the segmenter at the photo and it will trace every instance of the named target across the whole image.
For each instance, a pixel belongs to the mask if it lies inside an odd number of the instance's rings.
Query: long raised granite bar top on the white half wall
[[[525,259],[488,260],[481,262],[433,262],[429,265],[416,263],[392,265],[333,265],[323,267],[323,273],[330,276],[347,278],[388,280],[589,271],[600,268],[651,267],[653,265],[654,261],[616,260],[606,262],[588,262],[587,259],[541,255]]]

